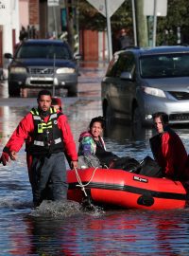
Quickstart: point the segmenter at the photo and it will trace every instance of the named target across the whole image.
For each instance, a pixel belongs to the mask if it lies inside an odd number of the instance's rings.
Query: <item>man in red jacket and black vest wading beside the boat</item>
[[[71,158],[72,168],[77,168],[76,144],[65,115],[51,107],[51,93],[42,90],[38,95],[38,108],[33,108],[22,119],[9,138],[0,161],[7,165],[9,158],[16,160],[17,152],[27,137],[31,138],[26,147],[31,155],[31,186],[34,206],[39,206],[45,188],[51,180],[52,200],[67,198],[66,167],[64,151]]]

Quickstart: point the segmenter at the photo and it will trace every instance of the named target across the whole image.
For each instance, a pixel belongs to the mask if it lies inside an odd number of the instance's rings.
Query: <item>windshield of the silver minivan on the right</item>
[[[163,54],[140,58],[143,78],[171,78],[189,76],[189,54]]]

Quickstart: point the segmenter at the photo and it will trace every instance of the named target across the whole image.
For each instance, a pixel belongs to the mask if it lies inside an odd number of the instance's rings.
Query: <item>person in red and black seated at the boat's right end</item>
[[[154,159],[162,167],[163,176],[174,180],[188,180],[187,152],[180,137],[169,127],[168,115],[155,113],[153,122],[158,135],[149,139]]]

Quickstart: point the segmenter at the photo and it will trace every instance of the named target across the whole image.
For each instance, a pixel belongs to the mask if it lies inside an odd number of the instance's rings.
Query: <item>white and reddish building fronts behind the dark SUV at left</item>
[[[14,53],[21,33],[27,38],[60,38],[67,40],[84,61],[107,59],[106,32],[80,31],[75,0],[1,0],[0,1],[0,67],[8,67],[4,53]],[[70,13],[72,12],[72,13]],[[74,42],[73,42],[74,41]]]

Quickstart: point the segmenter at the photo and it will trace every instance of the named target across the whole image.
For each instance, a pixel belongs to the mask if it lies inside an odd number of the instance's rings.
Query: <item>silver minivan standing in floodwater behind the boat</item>
[[[133,47],[116,52],[101,82],[103,115],[143,125],[165,112],[189,123],[189,47]]]

